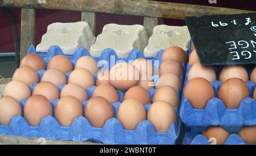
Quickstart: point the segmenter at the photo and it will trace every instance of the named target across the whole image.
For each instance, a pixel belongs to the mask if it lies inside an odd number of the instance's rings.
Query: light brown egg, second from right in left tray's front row
[[[138,100],[127,99],[118,108],[117,119],[125,129],[134,130],[139,123],[146,120],[146,110]]]

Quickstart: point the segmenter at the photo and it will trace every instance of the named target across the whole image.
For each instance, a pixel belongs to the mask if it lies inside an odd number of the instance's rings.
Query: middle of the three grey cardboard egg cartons
[[[130,50],[143,52],[148,44],[146,30],[141,25],[106,24],[102,33],[97,36],[96,43],[90,47],[90,54],[99,57],[102,50],[112,48],[120,58],[126,58]]]

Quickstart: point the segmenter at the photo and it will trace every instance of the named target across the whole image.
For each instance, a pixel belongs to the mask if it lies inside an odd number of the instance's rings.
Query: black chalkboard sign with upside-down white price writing
[[[256,13],[185,21],[202,65],[256,64]]]

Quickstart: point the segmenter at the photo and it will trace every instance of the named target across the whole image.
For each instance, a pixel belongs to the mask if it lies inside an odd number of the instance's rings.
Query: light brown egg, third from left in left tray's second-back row
[[[69,75],[68,83],[76,83],[87,89],[88,87],[94,86],[94,78],[89,70],[77,68]]]

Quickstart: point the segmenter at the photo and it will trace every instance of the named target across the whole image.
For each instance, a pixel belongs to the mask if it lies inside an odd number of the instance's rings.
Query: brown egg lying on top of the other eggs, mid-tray
[[[126,91],[139,83],[139,71],[128,63],[116,64],[110,70],[110,83],[115,88]]]

